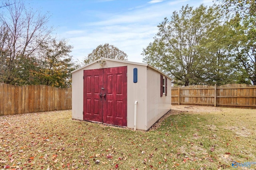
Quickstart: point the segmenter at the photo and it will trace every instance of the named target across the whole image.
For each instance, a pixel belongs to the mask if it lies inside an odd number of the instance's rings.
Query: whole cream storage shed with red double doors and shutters
[[[72,118],[148,130],[171,109],[171,80],[144,63],[101,58],[72,71]]]

